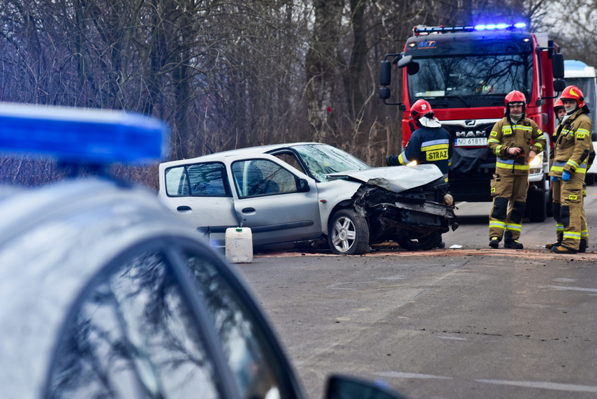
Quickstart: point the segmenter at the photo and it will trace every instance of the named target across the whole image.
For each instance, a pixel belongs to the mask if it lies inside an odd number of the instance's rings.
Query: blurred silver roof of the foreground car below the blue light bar
[[[20,398],[42,392],[66,312],[107,263],[156,238],[200,241],[154,193],[108,180],[17,192],[0,201],[0,221],[0,353],[10,365],[0,386]]]

